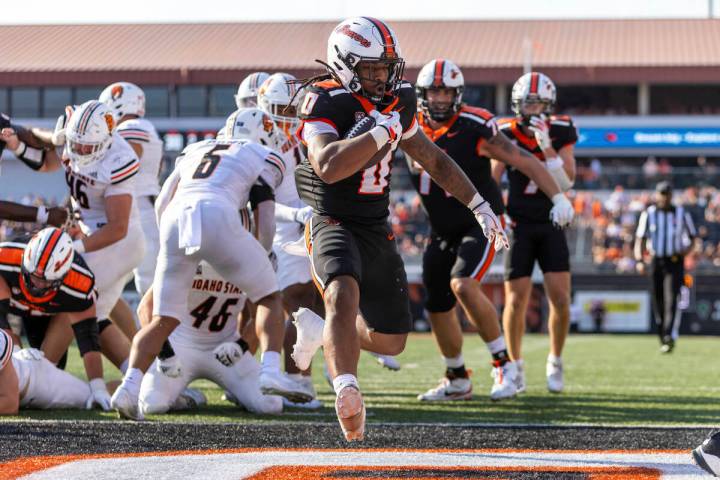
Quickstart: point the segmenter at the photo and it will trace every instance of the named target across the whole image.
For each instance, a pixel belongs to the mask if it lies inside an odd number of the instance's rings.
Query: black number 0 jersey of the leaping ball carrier
[[[403,132],[417,128],[417,99],[410,83],[404,82],[387,107],[380,109],[337,82],[324,81],[314,84],[305,95],[298,137],[302,140],[306,123],[325,122],[337,131],[339,138],[343,138],[356,122],[376,108],[383,113],[397,111]],[[372,225],[387,221],[391,170],[392,152],[376,165],[328,184],[320,179],[306,158],[295,169],[295,183],[300,198],[316,213]]]

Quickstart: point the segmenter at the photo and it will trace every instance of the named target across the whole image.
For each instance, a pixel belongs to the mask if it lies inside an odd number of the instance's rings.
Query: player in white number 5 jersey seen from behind
[[[272,120],[258,109],[242,111],[241,125]],[[269,142],[268,142],[269,143]],[[160,255],[153,281],[153,319],[133,339],[130,368],[112,398],[121,416],[141,420],[138,396],[144,372],[163,342],[187,312],[188,291],[201,260],[236,285],[257,305],[256,323],[262,349],[260,384],[263,393],[309,400],[299,384],[280,372],[285,333],[282,298],[269,255],[270,231],[256,240],[243,227],[238,211],[252,196],[274,198],[285,165],[272,150],[249,140],[205,140],[185,148],[158,198]],[[274,216],[273,202],[270,215]],[[272,217],[271,217],[272,219]],[[228,239],[231,247],[228,248]],[[260,242],[263,242],[262,244]]]

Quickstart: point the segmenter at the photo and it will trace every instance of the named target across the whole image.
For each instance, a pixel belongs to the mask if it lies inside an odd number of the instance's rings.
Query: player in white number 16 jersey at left
[[[143,259],[145,240],[135,196],[140,163],[132,147],[117,133],[108,107],[97,100],[83,103],[64,129],[62,158],[49,150],[40,171],[65,169],[73,209],[80,213],[83,238],[73,243],[95,274],[97,316],[102,321],[120,298],[133,269]],[[17,149],[13,134],[4,138]],[[130,339],[134,324],[118,325]]]

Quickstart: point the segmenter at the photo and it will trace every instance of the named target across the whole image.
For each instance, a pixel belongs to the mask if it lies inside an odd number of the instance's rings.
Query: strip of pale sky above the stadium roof
[[[32,0],[4,2],[0,24],[338,20],[707,18],[710,0]],[[714,2],[720,17],[720,0]],[[448,5],[453,5],[448,8]]]

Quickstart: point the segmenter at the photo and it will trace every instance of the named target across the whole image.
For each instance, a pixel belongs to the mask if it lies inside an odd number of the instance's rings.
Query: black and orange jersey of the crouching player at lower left
[[[85,260],[75,252],[72,267],[58,290],[43,297],[33,296],[21,273],[22,255],[27,241],[0,243],[0,276],[10,287],[10,311],[22,316],[52,316],[82,312],[95,303],[95,276]]]

